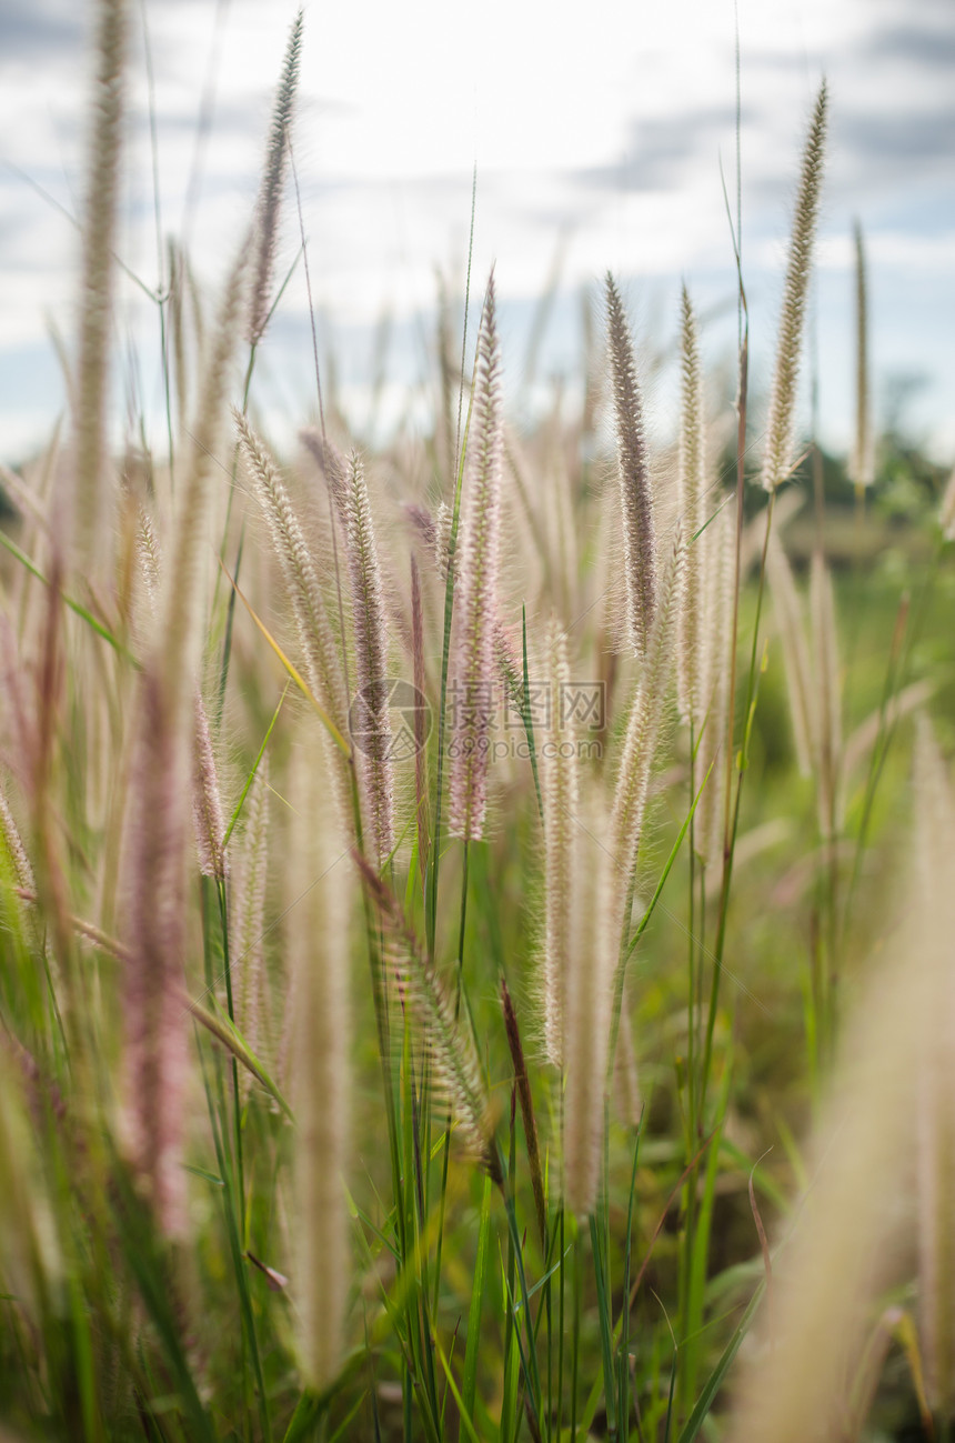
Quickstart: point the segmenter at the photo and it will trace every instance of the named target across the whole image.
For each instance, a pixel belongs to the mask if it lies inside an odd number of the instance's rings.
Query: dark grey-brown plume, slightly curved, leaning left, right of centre
[[[630,645],[636,655],[642,657],[656,615],[653,495],[633,342],[620,291],[610,274],[606,278],[606,291],[613,418],[617,433],[626,620]]]

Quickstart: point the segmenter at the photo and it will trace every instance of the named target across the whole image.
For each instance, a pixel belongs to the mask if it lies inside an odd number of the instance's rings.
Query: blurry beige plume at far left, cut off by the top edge
[[[104,488],[108,475],[107,408],[115,271],[113,253],[123,149],[127,0],[100,0],[97,16],[98,65],[82,227],[79,371],[75,395],[74,528],[75,558],[81,569],[92,563],[104,522],[108,525],[111,521],[111,498],[104,494]]]

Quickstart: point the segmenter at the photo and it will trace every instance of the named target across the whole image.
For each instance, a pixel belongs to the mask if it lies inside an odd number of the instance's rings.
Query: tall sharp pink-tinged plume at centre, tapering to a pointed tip
[[[465,841],[479,841],[483,835],[488,805],[502,462],[501,348],[492,271],[478,338],[449,672],[453,693],[449,821],[452,835]]]

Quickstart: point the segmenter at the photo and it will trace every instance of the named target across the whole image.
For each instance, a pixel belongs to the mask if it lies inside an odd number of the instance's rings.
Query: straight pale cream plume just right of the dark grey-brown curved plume
[[[679,515],[687,535],[685,603],[679,610],[677,631],[677,704],[681,719],[698,729],[703,719],[701,645],[704,615],[704,569],[701,537],[701,502],[705,481],[703,371],[700,367],[700,338],[687,287],[682,289],[681,325],[681,407],[679,407]]]

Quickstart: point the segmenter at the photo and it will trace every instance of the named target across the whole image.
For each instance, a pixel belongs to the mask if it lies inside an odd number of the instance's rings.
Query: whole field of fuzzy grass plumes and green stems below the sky
[[[825,94],[736,494],[691,287],[656,455],[612,277],[578,416],[511,427],[492,277],[460,352],[443,303],[433,433],[375,453],[327,404],[280,457],[255,356],[299,16],[189,330],[170,242],[182,440],[170,400],[172,453],[117,465],[100,9],[72,446],[4,473],[0,1431],[951,1429],[955,502],[910,600],[840,574],[822,512],[806,574],[779,531]]]

